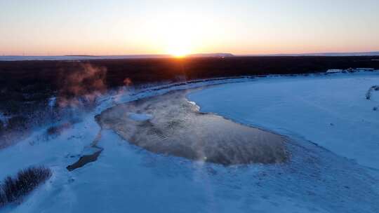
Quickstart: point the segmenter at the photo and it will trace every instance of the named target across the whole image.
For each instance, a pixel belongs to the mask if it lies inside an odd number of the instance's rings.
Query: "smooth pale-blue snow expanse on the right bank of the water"
[[[189,95],[201,111],[303,137],[361,165],[379,169],[378,102],[365,98],[377,73],[274,78],[222,85]]]

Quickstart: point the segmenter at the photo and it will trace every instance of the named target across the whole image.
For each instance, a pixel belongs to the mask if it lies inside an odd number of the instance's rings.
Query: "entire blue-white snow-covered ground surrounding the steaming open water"
[[[0,179],[30,165],[53,170],[46,184],[0,212],[379,212],[379,92],[365,97],[379,73],[224,82],[188,98],[201,111],[290,138],[288,163],[222,167],[149,153],[102,130],[98,160],[67,171],[91,149],[100,130],[94,116],[104,109],[213,82],[124,92],[103,97],[58,137],[46,139],[48,127],[41,128],[0,150]]]

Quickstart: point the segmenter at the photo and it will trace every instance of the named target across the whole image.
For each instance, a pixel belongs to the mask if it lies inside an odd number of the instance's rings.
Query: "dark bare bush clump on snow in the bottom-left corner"
[[[6,177],[0,185],[0,206],[15,202],[30,193],[39,184],[51,177],[46,167],[29,167],[18,172],[17,177]]]

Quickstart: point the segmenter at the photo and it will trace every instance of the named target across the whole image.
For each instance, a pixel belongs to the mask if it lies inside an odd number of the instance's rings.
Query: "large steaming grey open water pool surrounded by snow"
[[[154,153],[222,165],[283,163],[288,159],[284,137],[200,113],[197,105],[185,98],[188,92],[177,90],[119,104],[96,120],[102,128]],[[135,119],[136,114],[146,119]]]

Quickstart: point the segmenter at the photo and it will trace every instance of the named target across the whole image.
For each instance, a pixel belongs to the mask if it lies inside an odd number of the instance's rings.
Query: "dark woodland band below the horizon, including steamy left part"
[[[379,56],[187,57],[0,62],[0,111],[22,103],[35,111],[52,95],[83,95],[120,85],[264,74],[310,74],[327,69],[379,69]],[[83,78],[83,79],[81,79]],[[100,82],[101,81],[101,82]],[[81,91],[77,87],[81,87]],[[65,92],[65,94],[62,93]],[[36,103],[39,104],[36,104]],[[6,109],[4,109],[6,107]],[[11,112],[12,113],[12,112]]]

